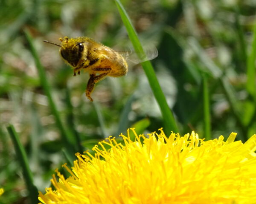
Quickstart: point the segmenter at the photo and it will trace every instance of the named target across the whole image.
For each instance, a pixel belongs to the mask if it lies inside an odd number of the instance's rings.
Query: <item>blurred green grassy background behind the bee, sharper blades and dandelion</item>
[[[254,0],[122,0],[143,45],[155,45],[152,60],[180,134],[205,137],[204,99],[209,93],[212,138],[231,132],[245,141],[256,133]],[[137,127],[148,133],[163,127],[157,102],[140,65],[125,77],[96,85],[84,94],[88,74],[73,71],[58,53],[59,37],[92,37],[110,47],[129,42],[111,0],[0,1],[0,187],[1,204],[25,204],[28,191],[6,130],[14,125],[26,148],[34,183],[44,192],[55,168],[67,162],[61,131],[42,87],[29,42],[46,72],[65,131],[83,150]],[[206,91],[206,92],[205,92]],[[206,100],[207,101],[207,100]],[[79,138],[79,139],[78,139]],[[82,151],[81,147],[76,151]]]

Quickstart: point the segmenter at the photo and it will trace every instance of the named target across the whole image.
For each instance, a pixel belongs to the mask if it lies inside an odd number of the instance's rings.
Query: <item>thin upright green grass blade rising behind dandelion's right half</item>
[[[212,139],[211,114],[210,114],[208,80],[205,75],[203,75],[203,87],[204,87],[204,137],[206,140],[210,140]]]

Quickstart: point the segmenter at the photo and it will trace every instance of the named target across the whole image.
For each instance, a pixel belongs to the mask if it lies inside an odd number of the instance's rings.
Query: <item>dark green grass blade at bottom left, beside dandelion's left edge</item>
[[[29,191],[29,199],[31,204],[38,203],[38,189],[34,185],[33,176],[29,168],[28,158],[26,156],[26,152],[24,147],[21,145],[19,137],[13,127],[13,125],[9,125],[7,130],[12,138],[12,142],[15,147],[17,159],[20,162],[20,166],[23,171],[23,176],[26,182],[26,187]]]

